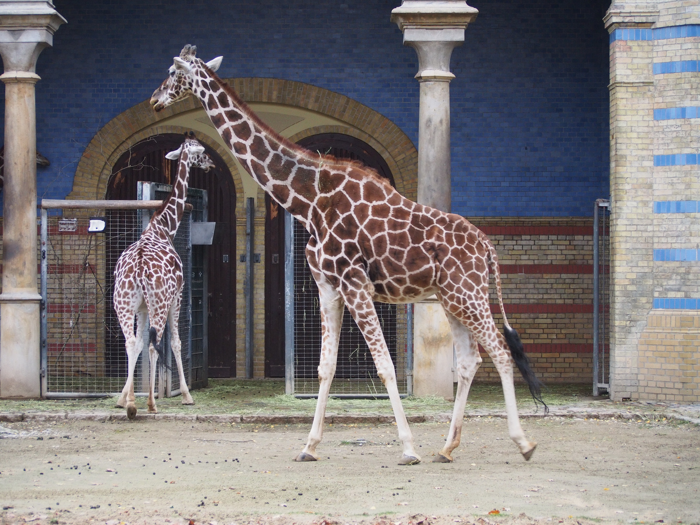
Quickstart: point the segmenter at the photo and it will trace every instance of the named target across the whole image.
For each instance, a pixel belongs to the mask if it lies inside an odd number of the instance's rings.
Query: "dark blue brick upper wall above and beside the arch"
[[[470,4],[479,16],[451,61],[452,211],[591,215],[609,195],[610,1]],[[37,147],[51,160],[38,169],[38,197],[71,191],[95,132],[148,99],[185,43],[204,59],[223,55],[221,76],[286,78],[356,99],[417,145],[418,61],[389,20],[398,5],[57,0],[68,23],[37,64]]]

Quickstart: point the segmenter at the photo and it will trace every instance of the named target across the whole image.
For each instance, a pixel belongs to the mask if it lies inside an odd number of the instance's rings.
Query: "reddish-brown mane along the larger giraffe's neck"
[[[184,51],[184,50],[183,50]],[[246,102],[244,102],[243,99],[237,94],[237,92],[226,82],[223,80],[220,76],[218,76],[209,66],[207,66],[206,62],[204,60],[200,59],[202,67],[204,67],[204,71],[207,71],[209,75],[211,75],[211,78],[214,78],[218,85],[221,85],[223,90],[228,94],[229,97],[235,102],[239,108],[244,111],[246,116],[253,120],[253,123],[255,123],[256,126],[260,127],[260,129],[265,132],[265,134],[269,135],[272,137],[274,140],[279,142],[282,146],[290,149],[291,151],[297,153],[298,155],[303,156],[307,160],[310,160],[311,162],[321,162],[323,165],[328,165],[334,168],[344,168],[344,167],[352,167],[356,169],[362,170],[367,176],[370,177],[370,179],[374,179],[375,181],[379,181],[382,184],[386,184],[386,186],[389,186],[390,188],[393,188],[391,186],[391,183],[388,181],[388,179],[385,179],[383,176],[377,172],[376,169],[369,167],[365,165],[364,162],[361,162],[360,160],[353,160],[353,159],[339,159],[336,158],[334,155],[325,155],[324,153],[320,153],[317,151],[311,151],[308,148],[304,148],[304,146],[300,146],[299,144],[296,144],[295,142],[290,141],[289,139],[286,139],[285,137],[282,137],[281,134],[276,132],[275,130],[272,129],[272,127],[269,127],[265,122],[263,122],[260,117],[258,117],[255,112],[251,109]]]

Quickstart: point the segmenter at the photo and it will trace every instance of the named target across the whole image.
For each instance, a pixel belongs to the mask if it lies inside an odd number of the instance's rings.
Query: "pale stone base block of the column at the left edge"
[[[41,398],[40,300],[37,293],[0,295],[0,398]]]

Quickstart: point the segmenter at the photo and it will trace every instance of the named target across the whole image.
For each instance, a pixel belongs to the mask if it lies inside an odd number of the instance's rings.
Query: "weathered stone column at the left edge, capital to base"
[[[41,395],[36,258],[34,72],[65,20],[48,1],[0,1],[5,72],[3,290],[0,294],[0,397]]]

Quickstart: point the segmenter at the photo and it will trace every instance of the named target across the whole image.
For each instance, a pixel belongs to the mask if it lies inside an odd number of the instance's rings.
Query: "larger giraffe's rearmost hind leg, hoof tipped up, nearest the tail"
[[[493,323],[493,317],[489,316],[479,322],[475,329],[477,339],[484,346],[484,349],[491,359],[493,365],[498,370],[500,384],[503,386],[503,397],[505,398],[505,412],[508,417],[508,434],[510,439],[517,444],[520,453],[526,460],[529,460],[537,447],[537,443],[528,441],[525,437],[520,419],[518,417],[518,407],[515,400],[515,386],[513,384],[513,362],[510,357],[510,350],[505,342],[505,337],[501,334]]]

